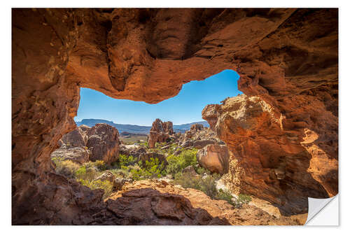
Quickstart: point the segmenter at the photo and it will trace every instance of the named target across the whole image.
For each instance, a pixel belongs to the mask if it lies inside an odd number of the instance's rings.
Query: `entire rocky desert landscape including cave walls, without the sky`
[[[204,121],[73,119],[81,87],[158,104],[226,69]],[[337,8],[13,8],[13,225],[303,225],[337,193]]]

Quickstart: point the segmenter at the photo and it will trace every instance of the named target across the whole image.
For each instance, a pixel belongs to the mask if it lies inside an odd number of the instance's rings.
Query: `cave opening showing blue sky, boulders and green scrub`
[[[81,88],[74,119],[77,128],[62,136],[59,148],[50,156],[56,174],[73,178],[91,190],[102,188],[104,199],[124,187],[119,181],[167,178],[183,188],[195,188],[183,181],[204,183],[208,179],[216,185],[228,174],[230,155],[225,143],[202,119],[202,110],[241,94],[238,79],[237,72],[225,70],[184,84],[179,94],[158,104],[113,99]],[[213,167],[205,161],[204,148],[218,154],[220,164]],[[233,197],[229,189],[224,194],[219,189],[201,191],[212,199]]]

